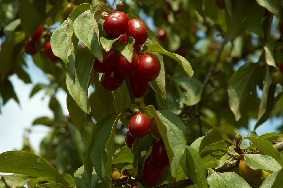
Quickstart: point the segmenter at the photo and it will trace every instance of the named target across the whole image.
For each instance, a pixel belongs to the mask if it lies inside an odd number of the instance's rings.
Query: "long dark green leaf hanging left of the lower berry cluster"
[[[117,122],[122,115],[115,115],[107,120],[95,133],[91,145],[90,158],[93,167],[106,187],[112,187],[111,163],[114,135]]]

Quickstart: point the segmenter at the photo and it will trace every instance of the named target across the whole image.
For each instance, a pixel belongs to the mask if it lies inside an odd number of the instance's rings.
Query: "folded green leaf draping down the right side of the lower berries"
[[[171,111],[155,111],[153,106],[146,106],[155,117],[170,162],[172,177],[176,172],[186,148],[186,127],[182,120]]]

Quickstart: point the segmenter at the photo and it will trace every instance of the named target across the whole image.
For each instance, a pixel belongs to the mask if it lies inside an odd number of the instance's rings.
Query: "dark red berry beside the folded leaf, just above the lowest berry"
[[[163,140],[159,140],[153,145],[151,160],[159,167],[166,167],[169,165],[169,159]]]

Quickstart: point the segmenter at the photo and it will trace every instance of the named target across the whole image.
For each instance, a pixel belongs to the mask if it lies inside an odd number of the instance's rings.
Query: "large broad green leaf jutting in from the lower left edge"
[[[58,183],[69,186],[69,183],[51,164],[31,152],[7,151],[0,154],[0,160],[0,172],[50,177]]]

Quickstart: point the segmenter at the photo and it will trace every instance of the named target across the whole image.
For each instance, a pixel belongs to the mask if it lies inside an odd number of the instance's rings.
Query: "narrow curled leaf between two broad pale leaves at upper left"
[[[69,62],[67,64],[67,70],[75,77],[75,61],[76,53],[79,39],[74,34],[74,21],[76,18],[86,10],[90,9],[90,4],[80,4],[73,9],[72,13],[68,17],[68,25],[66,29],[66,34],[69,42],[69,48],[73,57],[69,57]],[[74,60],[74,61],[72,61]]]

